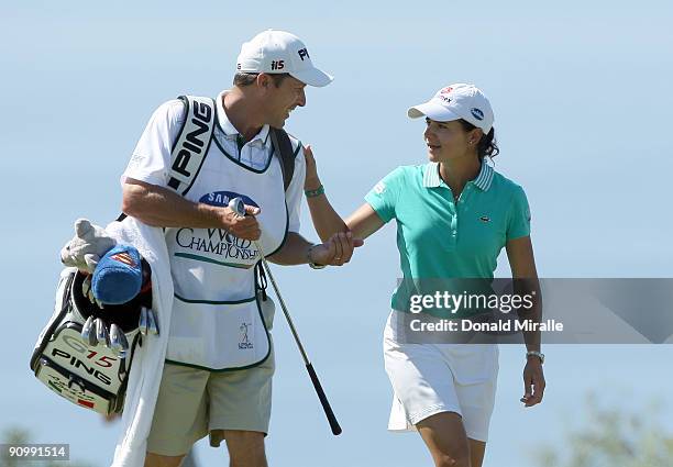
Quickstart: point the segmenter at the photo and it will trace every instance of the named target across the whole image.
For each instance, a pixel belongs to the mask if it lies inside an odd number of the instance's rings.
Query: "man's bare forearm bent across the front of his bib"
[[[195,203],[167,188],[148,184],[124,186],[122,212],[157,227],[222,227],[220,208]]]

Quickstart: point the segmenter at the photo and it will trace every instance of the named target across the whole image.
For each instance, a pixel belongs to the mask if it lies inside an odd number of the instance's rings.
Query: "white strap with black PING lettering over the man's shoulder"
[[[170,153],[168,187],[185,196],[194,185],[210,148],[216,124],[216,104],[211,98],[180,96],[185,104],[185,124]]]

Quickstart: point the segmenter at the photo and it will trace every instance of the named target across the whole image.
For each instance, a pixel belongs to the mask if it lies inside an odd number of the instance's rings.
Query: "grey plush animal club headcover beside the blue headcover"
[[[106,230],[93,225],[88,219],[75,222],[75,236],[60,249],[60,262],[65,266],[93,274],[101,256],[117,245]]]

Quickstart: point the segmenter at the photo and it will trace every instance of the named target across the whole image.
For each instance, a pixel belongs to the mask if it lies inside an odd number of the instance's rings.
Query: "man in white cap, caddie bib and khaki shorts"
[[[122,176],[122,211],[165,227],[175,288],[145,466],[178,466],[207,434],[212,446],[227,442],[231,465],[266,466],[274,356],[271,337],[268,351],[254,354],[266,348],[271,326],[268,313],[265,327],[251,324],[260,301],[254,266],[262,254],[280,265],[340,266],[356,245],[350,234],[321,245],[299,235],[304,151],[290,137],[295,170],[284,192],[269,137],[272,127],[283,127],[290,112],[306,105],[307,85],[331,80],[313,67],[298,37],[265,31],[243,44],[234,86],[216,99],[212,144],[185,197],[167,188],[172,144],[186,118],[180,101],[154,112],[135,147]],[[244,218],[228,208],[233,197],[244,199]],[[243,316],[240,329],[232,329],[232,315]],[[232,341],[236,352],[228,347]],[[253,356],[234,358],[238,349]]]

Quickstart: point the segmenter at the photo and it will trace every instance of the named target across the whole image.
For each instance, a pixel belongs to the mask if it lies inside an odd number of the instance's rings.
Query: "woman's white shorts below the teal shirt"
[[[440,412],[456,412],[467,437],[488,441],[498,377],[497,344],[404,344],[393,310],[384,331],[384,360],[393,385],[388,430],[415,431]]]

